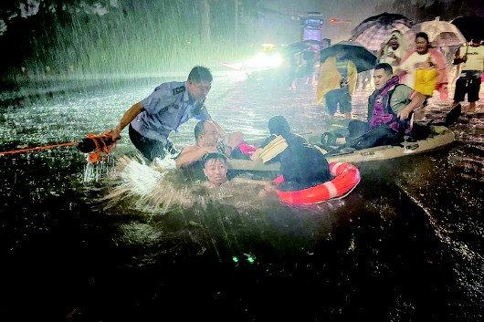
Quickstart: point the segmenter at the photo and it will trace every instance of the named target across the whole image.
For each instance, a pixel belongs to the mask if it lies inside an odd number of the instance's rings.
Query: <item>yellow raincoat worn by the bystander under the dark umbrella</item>
[[[356,76],[358,74],[354,63],[351,60],[346,61],[348,68],[348,90],[350,95],[356,88]],[[336,68],[336,57],[328,57],[321,64],[320,78],[318,80],[318,88],[316,89],[316,102],[322,103],[324,96],[332,89],[341,88],[342,75]]]

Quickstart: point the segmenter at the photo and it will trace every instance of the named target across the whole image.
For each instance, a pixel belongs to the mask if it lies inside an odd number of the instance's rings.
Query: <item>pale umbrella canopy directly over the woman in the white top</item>
[[[432,46],[436,47],[458,46],[466,43],[466,38],[458,30],[458,27],[447,21],[436,19],[413,26],[405,33],[405,39],[412,43],[415,41],[416,33],[419,32],[426,33]]]

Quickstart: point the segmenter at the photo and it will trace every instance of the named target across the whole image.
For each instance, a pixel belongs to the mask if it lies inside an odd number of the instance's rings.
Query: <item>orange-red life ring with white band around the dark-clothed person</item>
[[[276,189],[279,200],[294,205],[322,203],[345,197],[360,182],[360,171],[350,163],[331,162],[330,172],[334,179],[314,187],[292,192],[283,192]],[[284,179],[279,176],[274,182],[284,182]]]

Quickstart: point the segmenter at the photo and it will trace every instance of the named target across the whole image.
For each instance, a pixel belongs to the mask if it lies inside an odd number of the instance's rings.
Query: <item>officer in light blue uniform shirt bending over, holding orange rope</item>
[[[178,131],[191,118],[211,119],[204,102],[212,79],[208,68],[196,66],[186,81],[167,82],[154,88],[149,97],[124,113],[118,126],[111,130],[111,139],[119,140],[121,130],[129,124],[132,144],[149,161],[156,157],[163,159],[167,151],[176,153],[173,142],[168,139],[173,130]],[[216,127],[226,135],[218,124]]]

